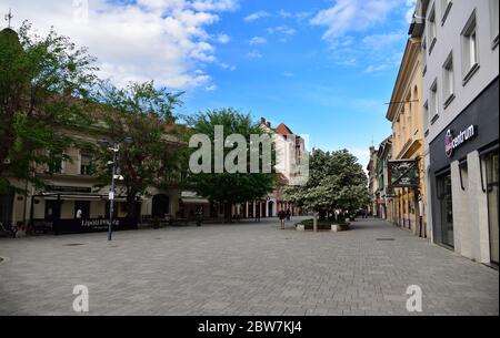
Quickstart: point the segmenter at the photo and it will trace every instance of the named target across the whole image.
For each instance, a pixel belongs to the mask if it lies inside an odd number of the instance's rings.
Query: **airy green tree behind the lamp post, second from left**
[[[181,144],[173,124],[173,109],[181,104],[180,95],[157,89],[153,82],[130,83],[126,89],[101,85],[96,99],[98,121],[109,145],[101,144],[96,150],[94,173],[102,185],[109,184],[112,153],[108,147],[120,144],[117,166],[124,180],[117,182],[117,192],[127,196],[129,217],[139,215],[137,201],[149,194],[148,187],[167,188],[181,180]],[[123,142],[127,137],[131,143]]]

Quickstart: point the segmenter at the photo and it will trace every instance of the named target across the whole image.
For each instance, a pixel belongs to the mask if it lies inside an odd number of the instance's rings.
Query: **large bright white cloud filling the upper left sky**
[[[207,28],[238,0],[137,0],[133,3],[89,1],[89,22],[74,20],[73,1],[2,0],[0,12],[14,10],[20,25],[32,22],[40,34],[51,25],[99,59],[101,76],[118,85],[154,80],[171,89],[204,85],[210,75],[196,72],[214,62]],[[216,38],[217,39],[217,38]],[[223,40],[223,39],[222,39]],[[220,40],[219,40],[220,42]]]

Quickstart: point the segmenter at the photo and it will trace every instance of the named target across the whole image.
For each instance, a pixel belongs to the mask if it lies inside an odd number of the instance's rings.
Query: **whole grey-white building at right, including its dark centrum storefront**
[[[499,262],[499,0],[420,0],[432,240]]]

